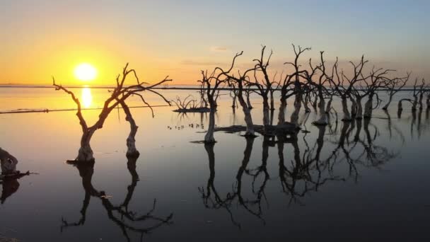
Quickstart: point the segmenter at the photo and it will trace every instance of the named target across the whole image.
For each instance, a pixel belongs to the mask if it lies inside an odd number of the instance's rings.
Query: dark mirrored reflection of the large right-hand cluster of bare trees
[[[303,123],[306,123],[306,120],[304,117]],[[391,128],[389,119],[388,127]],[[308,141],[312,137],[308,137],[307,132],[303,134],[302,138],[263,137],[262,163],[255,168],[248,168],[255,138],[245,138],[243,160],[236,173],[233,191],[227,192],[226,195],[222,195],[216,189],[214,145],[206,144],[204,148],[209,159],[209,178],[206,188],[199,188],[204,206],[207,209],[226,210],[232,223],[240,228],[240,222],[234,217],[232,209],[232,204],[236,203],[265,224],[262,201],[269,203],[265,192],[268,183],[275,183],[279,180],[282,192],[289,198],[286,204],[304,205],[306,195],[310,192],[318,192],[323,185],[346,182],[350,179],[354,183],[358,183],[361,169],[381,169],[385,163],[400,154],[399,151],[392,151],[383,145],[376,144],[380,132],[369,119],[342,122],[340,134],[337,134],[337,122],[334,129],[332,125],[316,128],[318,137],[313,143]],[[328,134],[326,134],[327,129],[329,129]],[[401,134],[400,130],[397,132]],[[303,145],[299,144],[301,142]],[[325,142],[329,142],[330,145],[325,146]],[[274,146],[277,147],[279,158],[276,178],[272,178],[273,176],[267,169],[269,149]],[[285,146],[292,148],[293,152],[286,153]],[[250,183],[244,183],[244,174],[251,176]],[[250,188],[252,197],[245,197],[243,194],[245,187]]]

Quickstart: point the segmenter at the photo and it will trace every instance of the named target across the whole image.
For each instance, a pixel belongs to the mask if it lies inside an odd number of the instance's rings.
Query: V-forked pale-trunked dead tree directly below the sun
[[[167,81],[172,81],[171,79],[168,79],[168,76],[165,77],[165,79],[158,81],[155,84],[144,86],[145,82],[139,81],[139,78],[137,77],[136,71],[134,69],[127,69],[128,63],[125,65],[124,69],[122,70],[122,75],[117,76],[117,86],[110,91],[111,95],[108,99],[105,100],[105,103],[103,105],[102,110],[100,111],[100,114],[98,115],[98,120],[95,122],[94,125],[89,126],[85,120],[85,118],[82,115],[81,111],[81,102],[79,101],[79,98],[76,98],[75,94],[71,91],[69,91],[67,88],[65,88],[62,85],[58,85],[55,83],[55,79],[52,78],[52,85],[55,87],[55,90],[62,90],[69,94],[74,100],[74,102],[77,105],[77,113],[76,116],[79,119],[79,123],[81,125],[82,129],[82,137],[81,137],[81,147],[79,148],[78,156],[76,157],[75,161],[94,161],[93,157],[93,149],[91,149],[91,138],[93,137],[93,134],[96,130],[101,129],[103,127],[103,124],[105,123],[106,118],[108,118],[110,112],[112,112],[113,109],[117,108],[118,105],[120,105],[121,102],[125,102],[127,98],[130,96],[139,96],[141,100],[151,108],[151,105],[146,102],[144,99],[144,96],[141,95],[141,92],[143,91],[149,91],[151,93],[155,93],[158,96],[161,96],[163,100],[165,100],[166,103],[170,105],[170,102],[166,100],[160,93],[154,91],[152,88],[156,87],[162,83],[165,83]],[[134,74],[134,77],[136,78],[136,84],[131,86],[124,86],[124,83],[127,79],[127,76],[129,74]],[[151,112],[153,113],[153,110],[151,108]]]

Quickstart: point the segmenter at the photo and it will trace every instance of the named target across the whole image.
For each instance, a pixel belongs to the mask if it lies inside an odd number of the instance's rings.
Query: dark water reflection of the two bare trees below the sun
[[[82,178],[83,189],[85,190],[85,198],[83,200],[83,205],[81,209],[81,219],[77,222],[70,223],[65,219],[62,219],[62,230],[69,226],[82,226],[86,221],[86,209],[90,203],[91,197],[98,197],[103,207],[105,208],[108,217],[110,220],[114,221],[117,226],[120,227],[122,234],[127,238],[127,241],[130,241],[130,237],[128,231],[134,231],[141,234],[141,238],[144,234],[149,234],[154,229],[159,226],[163,226],[163,224],[171,224],[171,219],[173,214],[170,214],[168,217],[156,217],[153,216],[152,213],[155,210],[156,200],[153,201],[153,207],[144,215],[139,215],[136,212],[129,210],[129,202],[132,200],[132,196],[134,193],[134,188],[136,188],[137,181],[139,180],[139,175],[136,173],[136,158],[129,159],[127,163],[127,168],[129,170],[130,175],[132,175],[132,184],[127,187],[127,195],[124,199],[124,202],[120,206],[115,206],[109,200],[109,196],[105,195],[105,192],[98,191],[93,187],[91,182],[93,178],[93,164],[85,164],[79,163],[76,165],[79,170],[79,175]],[[120,217],[115,216],[115,212],[120,214]],[[138,221],[155,221],[155,224],[152,226],[147,226],[144,228],[140,228],[138,226],[134,226],[133,222]]]

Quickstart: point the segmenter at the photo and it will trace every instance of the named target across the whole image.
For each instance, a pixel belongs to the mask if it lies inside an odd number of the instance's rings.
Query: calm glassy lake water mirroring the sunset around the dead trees
[[[74,91],[88,108],[99,107],[108,95]],[[162,92],[170,99],[192,93]],[[148,99],[163,104],[156,96]],[[260,124],[260,99],[253,97],[252,104]],[[243,124],[228,95],[219,105],[218,126]],[[325,130],[310,124],[315,113],[303,113],[308,132],[286,144],[216,132],[213,148],[192,143],[203,139],[207,115],[178,115],[163,107],[151,118],[147,108],[133,108],[141,152],[136,161],[125,157],[129,126],[122,110],[115,110],[93,137],[94,168],[64,163],[79,149],[74,112],[0,115],[0,146],[18,158],[18,170],[39,173],[2,184],[0,238],[429,241],[429,113],[412,115],[405,104],[398,118],[396,105],[391,119],[375,110],[370,122],[347,126],[332,115]],[[0,88],[0,110],[19,108],[74,103],[52,89]],[[98,110],[84,115],[95,120]],[[95,196],[102,191],[107,197]]]

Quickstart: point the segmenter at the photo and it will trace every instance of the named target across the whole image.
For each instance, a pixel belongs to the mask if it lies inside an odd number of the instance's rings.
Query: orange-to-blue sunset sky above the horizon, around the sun
[[[1,0],[0,84],[112,85],[122,67],[154,83],[194,84],[200,70],[252,64],[273,50],[272,71],[294,57],[356,61],[430,79],[430,1]],[[76,80],[90,63],[98,76]],[[347,67],[345,67],[347,68]],[[430,83],[430,81],[427,81]]]

